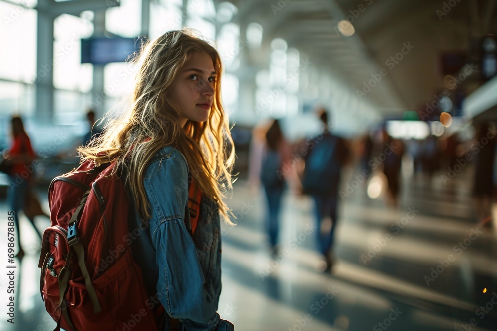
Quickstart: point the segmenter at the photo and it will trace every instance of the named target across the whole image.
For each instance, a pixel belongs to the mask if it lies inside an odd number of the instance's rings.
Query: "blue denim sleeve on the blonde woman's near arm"
[[[188,201],[186,163],[166,158],[149,168],[144,181],[159,268],[158,298],[167,314],[182,321],[186,330],[216,330],[220,320],[217,301],[204,290],[195,244],[184,223]]]

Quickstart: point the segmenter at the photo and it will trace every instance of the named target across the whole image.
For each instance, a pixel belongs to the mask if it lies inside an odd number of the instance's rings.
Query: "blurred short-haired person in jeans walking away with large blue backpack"
[[[312,139],[312,143],[304,153],[302,193],[310,195],[314,200],[316,241],[326,263],[324,271],[328,272],[333,264],[331,249],[338,223],[340,174],[343,165],[347,162],[349,150],[342,138],[330,133],[326,110],[321,110],[319,117],[323,129]],[[321,223],[325,217],[330,217],[332,224],[329,230],[323,232]]]

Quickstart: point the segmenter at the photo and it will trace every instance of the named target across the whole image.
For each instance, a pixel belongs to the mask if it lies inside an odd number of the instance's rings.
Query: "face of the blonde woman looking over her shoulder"
[[[216,70],[206,52],[194,53],[174,79],[169,98],[181,111],[181,126],[187,120],[205,122],[214,100]]]

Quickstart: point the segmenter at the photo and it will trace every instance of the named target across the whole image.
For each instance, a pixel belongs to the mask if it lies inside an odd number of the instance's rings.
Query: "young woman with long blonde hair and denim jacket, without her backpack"
[[[142,51],[132,105],[80,148],[83,160],[117,160],[148,231],[135,260],[165,308],[162,330],[233,330],[216,310],[221,292],[220,214],[231,189],[233,141],[220,97],[217,51],[189,30],[170,31]],[[188,190],[202,192],[193,236]],[[176,329],[177,328],[177,329]]]

